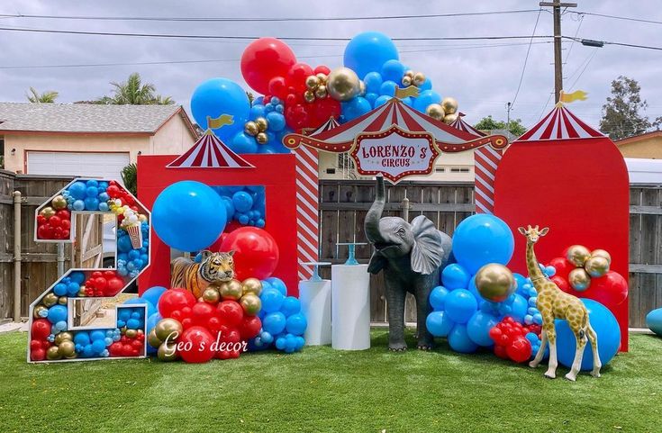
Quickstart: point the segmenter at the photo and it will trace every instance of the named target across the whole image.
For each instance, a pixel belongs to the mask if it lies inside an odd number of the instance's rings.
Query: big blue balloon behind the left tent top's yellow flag
[[[225,143],[237,132],[243,131],[244,123],[249,120],[249,97],[240,85],[227,78],[212,78],[195,88],[191,96],[191,113],[195,122],[206,129],[207,117],[217,119],[225,114],[230,122],[216,130],[216,136]]]

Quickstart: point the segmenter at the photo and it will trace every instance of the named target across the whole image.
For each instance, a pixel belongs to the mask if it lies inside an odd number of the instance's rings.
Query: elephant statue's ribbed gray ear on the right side
[[[433,273],[444,258],[440,231],[427,217],[420,215],[412,221],[412,270],[419,274]]]

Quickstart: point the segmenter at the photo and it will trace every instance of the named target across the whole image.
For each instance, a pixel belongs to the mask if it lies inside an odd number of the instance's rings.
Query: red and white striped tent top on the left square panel
[[[218,139],[212,130],[204,131],[191,149],[177,157],[168,168],[251,168],[244,158],[234,153]]]

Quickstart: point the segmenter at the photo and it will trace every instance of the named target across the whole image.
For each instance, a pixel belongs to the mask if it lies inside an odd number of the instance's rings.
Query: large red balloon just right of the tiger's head
[[[276,240],[266,230],[257,227],[241,227],[232,231],[223,240],[221,249],[234,251],[235,278],[240,281],[249,277],[264,280],[278,266]]]

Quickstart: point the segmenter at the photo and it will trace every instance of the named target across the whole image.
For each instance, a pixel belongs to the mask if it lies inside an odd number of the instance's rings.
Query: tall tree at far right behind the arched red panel
[[[648,103],[641,99],[640,91],[641,86],[634,79],[620,76],[613,80],[612,95],[603,105],[600,131],[612,140],[620,140],[648,130],[651,124],[641,113],[646,111]]]

